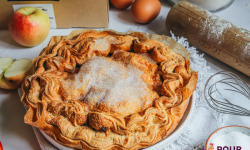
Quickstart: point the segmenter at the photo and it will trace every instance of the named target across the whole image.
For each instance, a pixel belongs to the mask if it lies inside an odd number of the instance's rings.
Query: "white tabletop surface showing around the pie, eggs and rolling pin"
[[[153,22],[145,25],[134,23],[130,17],[129,10],[119,11],[111,8],[109,29],[120,32],[142,31],[166,34],[165,19],[170,10],[170,5],[166,3],[166,0],[162,0],[161,3],[162,9],[160,15]],[[250,30],[250,0],[235,0],[229,8],[216,13],[216,15],[233,22],[237,26]],[[75,29],[51,30],[47,39],[39,46],[33,48],[19,46],[13,41],[8,31],[0,30],[0,57],[33,59],[38,56],[42,48],[48,44],[51,36],[67,35],[72,30]],[[239,75],[244,81],[250,83],[249,78],[242,73],[208,55],[205,55],[204,57],[207,60],[208,65],[211,67],[210,72],[217,72],[220,70],[231,71]],[[3,144],[4,150],[40,149],[32,128],[25,125],[23,122],[24,114],[25,110],[19,100],[17,91],[0,89],[0,141]],[[249,126],[244,121],[249,118],[232,116],[232,119],[235,119],[238,125]],[[229,123],[228,125],[231,124]]]

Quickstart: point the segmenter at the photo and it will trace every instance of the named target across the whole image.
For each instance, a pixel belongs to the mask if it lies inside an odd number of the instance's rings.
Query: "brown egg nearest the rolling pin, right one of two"
[[[138,23],[149,23],[154,20],[161,11],[159,0],[136,0],[131,5],[131,15]]]

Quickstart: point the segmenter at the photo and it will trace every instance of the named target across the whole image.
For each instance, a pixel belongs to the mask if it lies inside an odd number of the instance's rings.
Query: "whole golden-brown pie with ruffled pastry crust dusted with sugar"
[[[146,34],[52,37],[22,85],[25,123],[77,149],[140,149],[170,134],[196,88],[189,60]]]

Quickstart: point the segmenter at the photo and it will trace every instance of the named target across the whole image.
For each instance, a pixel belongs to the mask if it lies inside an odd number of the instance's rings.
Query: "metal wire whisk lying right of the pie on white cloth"
[[[236,100],[232,99],[234,104],[225,97],[225,92],[234,92],[245,96],[247,102],[250,102],[250,88],[237,75],[230,72],[218,72],[212,75],[206,82],[204,88],[204,96],[209,106],[214,110],[240,116],[250,116],[250,110],[235,104]],[[240,95],[235,95],[240,96]],[[244,98],[244,97],[243,97]],[[237,102],[236,102],[237,103]],[[246,107],[250,108],[250,105]]]

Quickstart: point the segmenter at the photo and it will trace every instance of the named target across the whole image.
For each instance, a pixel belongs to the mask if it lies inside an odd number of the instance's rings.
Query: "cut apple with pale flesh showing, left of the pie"
[[[10,57],[0,58],[0,88],[17,89],[21,86],[25,77],[32,73],[32,61],[30,59],[14,60]]]

